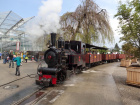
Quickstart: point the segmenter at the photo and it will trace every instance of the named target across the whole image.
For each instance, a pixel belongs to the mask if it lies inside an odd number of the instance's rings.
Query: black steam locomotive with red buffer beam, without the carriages
[[[49,86],[64,81],[71,73],[80,72],[85,67],[85,44],[81,41],[64,41],[60,37],[56,45],[56,34],[51,33],[49,49],[44,54],[48,67],[37,70],[36,84]]]

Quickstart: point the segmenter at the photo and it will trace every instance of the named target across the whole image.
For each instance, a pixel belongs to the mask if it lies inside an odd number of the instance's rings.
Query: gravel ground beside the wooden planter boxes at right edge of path
[[[119,67],[118,65],[118,67],[114,70],[113,77],[124,105],[140,105],[140,87],[126,84],[126,68]]]

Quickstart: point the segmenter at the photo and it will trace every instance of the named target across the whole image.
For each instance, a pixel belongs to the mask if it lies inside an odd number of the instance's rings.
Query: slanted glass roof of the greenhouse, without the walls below
[[[0,46],[7,48],[16,44],[16,41],[19,39],[22,41],[23,36],[25,39],[24,26],[32,18],[34,17],[23,19],[12,11],[0,12]]]

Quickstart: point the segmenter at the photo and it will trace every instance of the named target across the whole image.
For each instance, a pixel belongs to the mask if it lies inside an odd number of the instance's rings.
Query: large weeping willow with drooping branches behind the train
[[[82,40],[91,44],[93,41],[111,42],[114,38],[106,10],[92,0],[84,0],[75,12],[65,13],[60,24],[64,38],[68,40]]]

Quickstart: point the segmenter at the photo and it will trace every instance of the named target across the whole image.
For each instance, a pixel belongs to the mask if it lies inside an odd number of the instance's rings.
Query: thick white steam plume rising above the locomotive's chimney
[[[63,0],[43,0],[38,15],[26,26],[26,32],[32,36],[42,36],[56,32],[60,28],[59,13]]]

